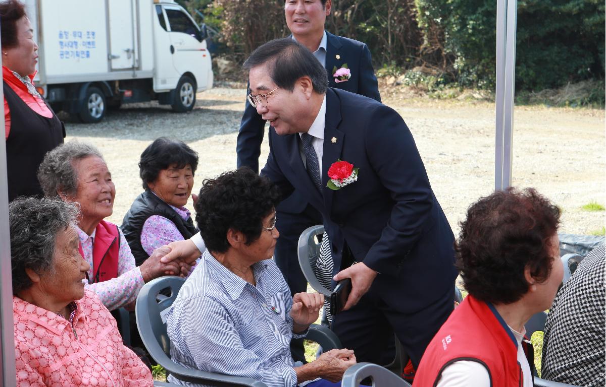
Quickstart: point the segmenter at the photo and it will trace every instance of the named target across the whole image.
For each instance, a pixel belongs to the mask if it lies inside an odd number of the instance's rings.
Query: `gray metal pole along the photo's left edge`
[[[0,99],[4,91],[0,88]],[[4,117],[4,103],[0,106]],[[0,141],[0,387],[17,385],[15,374],[15,328],[13,328],[13,278],[8,227],[8,180],[6,141]]]

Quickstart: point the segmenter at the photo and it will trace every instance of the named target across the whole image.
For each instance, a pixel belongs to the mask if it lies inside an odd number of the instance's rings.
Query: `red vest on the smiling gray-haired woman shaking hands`
[[[80,255],[84,258],[82,244],[78,245]],[[91,284],[118,277],[118,260],[120,252],[120,232],[113,223],[101,221],[95,229],[93,241],[93,278]]]

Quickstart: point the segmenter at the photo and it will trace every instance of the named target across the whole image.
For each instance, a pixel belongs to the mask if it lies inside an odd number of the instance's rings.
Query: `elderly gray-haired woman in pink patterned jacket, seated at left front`
[[[17,385],[153,386],[116,320],[84,290],[90,265],[78,252],[77,213],[53,198],[10,204]]]

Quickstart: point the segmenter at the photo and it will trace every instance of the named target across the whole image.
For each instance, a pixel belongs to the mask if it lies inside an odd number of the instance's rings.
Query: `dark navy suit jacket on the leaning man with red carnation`
[[[298,134],[280,136],[270,128],[261,174],[285,195],[301,192],[322,213],[333,243],[333,274],[348,246],[356,261],[380,273],[373,286],[385,301],[406,296],[405,310],[418,311],[452,290],[456,270],[453,233],[415,140],[402,117],[375,100],[333,88],[326,97],[322,193],[305,171]],[[327,172],[338,159],[358,167],[359,176],[333,191]]]

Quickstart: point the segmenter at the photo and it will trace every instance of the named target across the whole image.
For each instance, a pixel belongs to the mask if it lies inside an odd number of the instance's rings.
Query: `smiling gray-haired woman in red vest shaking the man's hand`
[[[162,264],[154,256],[137,267],[118,226],[104,220],[112,215],[116,189],[105,160],[93,146],[70,141],[48,152],[38,180],[45,195],[79,204],[76,229],[80,254],[90,264],[87,288],[108,310],[135,302],[145,282],[179,273],[178,265]]]

